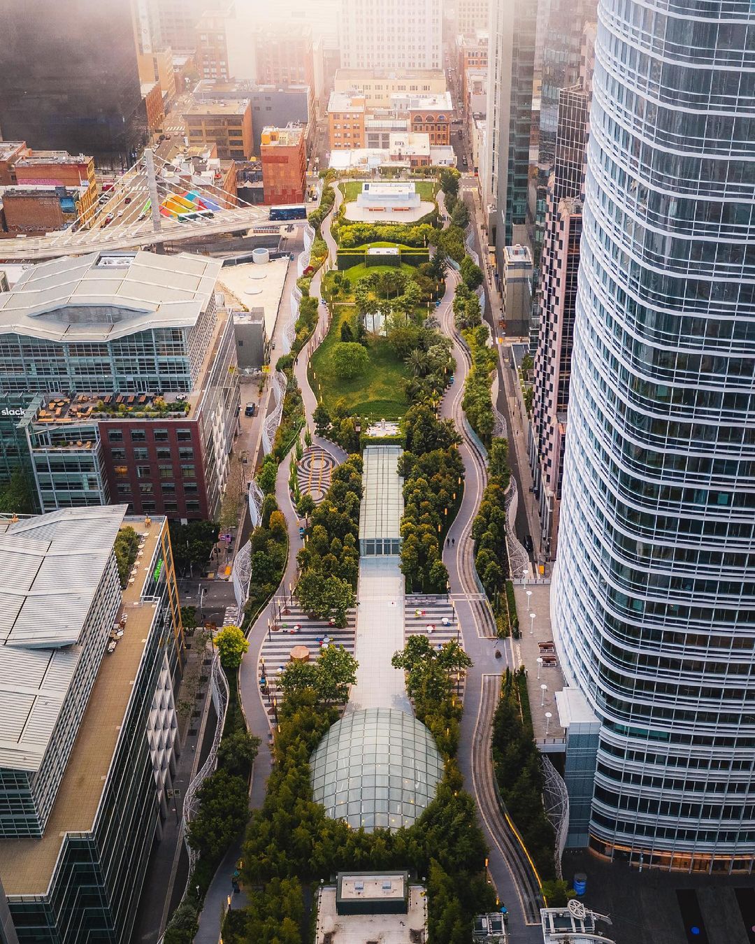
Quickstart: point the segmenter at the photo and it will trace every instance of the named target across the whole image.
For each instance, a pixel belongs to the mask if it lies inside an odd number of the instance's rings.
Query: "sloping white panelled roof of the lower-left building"
[[[68,508],[0,531],[0,767],[42,763],[125,513]]]

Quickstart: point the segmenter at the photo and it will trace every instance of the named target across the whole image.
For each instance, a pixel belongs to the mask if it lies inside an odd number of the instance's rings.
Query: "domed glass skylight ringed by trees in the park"
[[[310,757],[313,799],[369,833],[411,826],[435,796],[444,764],[432,734],[392,708],[350,712]]]

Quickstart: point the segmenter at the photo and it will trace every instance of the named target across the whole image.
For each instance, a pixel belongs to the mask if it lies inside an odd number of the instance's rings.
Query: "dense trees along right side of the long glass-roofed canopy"
[[[401,424],[404,452],[398,474],[404,479],[401,571],[411,590],[443,593],[445,532],[461,501],[464,464],[459,434],[450,420],[426,405],[411,407]]]

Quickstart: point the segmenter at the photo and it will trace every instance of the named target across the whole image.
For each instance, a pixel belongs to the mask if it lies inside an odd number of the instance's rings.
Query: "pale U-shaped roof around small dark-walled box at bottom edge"
[[[314,939],[316,944],[414,944],[427,938],[427,925],[428,899],[422,885],[410,885],[409,912],[395,915],[339,915],[336,887],[326,885],[320,889]]]

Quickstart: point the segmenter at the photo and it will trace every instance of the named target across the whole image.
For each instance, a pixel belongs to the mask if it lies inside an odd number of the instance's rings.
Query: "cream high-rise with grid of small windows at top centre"
[[[442,0],[342,0],[344,69],[441,69]]]

